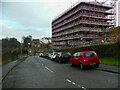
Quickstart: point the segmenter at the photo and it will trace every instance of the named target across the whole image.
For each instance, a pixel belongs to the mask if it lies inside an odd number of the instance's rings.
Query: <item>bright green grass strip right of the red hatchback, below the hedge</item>
[[[107,64],[107,65],[120,65],[120,60],[118,59],[111,59],[111,58],[99,58],[101,64]]]

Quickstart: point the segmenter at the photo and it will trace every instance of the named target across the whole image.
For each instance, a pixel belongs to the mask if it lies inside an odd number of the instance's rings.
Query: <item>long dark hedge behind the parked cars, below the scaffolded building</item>
[[[72,48],[66,48],[66,49],[57,49],[56,51],[62,52],[62,51],[68,51],[71,54],[74,54],[75,52],[81,52],[81,51],[95,51],[100,58],[114,58],[114,59],[120,59],[120,42],[117,43],[111,43],[111,44],[101,44],[101,45],[93,45],[93,46],[85,46],[85,47],[72,47]]]

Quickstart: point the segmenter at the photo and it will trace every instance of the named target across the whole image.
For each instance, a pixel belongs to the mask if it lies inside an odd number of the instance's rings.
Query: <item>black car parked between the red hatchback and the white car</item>
[[[70,62],[71,54],[69,52],[59,52],[56,55],[55,61],[62,62]]]

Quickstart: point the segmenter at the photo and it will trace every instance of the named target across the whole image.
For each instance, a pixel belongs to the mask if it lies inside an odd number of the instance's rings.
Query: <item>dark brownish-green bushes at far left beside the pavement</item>
[[[16,38],[2,39],[2,61],[9,62],[20,56],[20,42]]]

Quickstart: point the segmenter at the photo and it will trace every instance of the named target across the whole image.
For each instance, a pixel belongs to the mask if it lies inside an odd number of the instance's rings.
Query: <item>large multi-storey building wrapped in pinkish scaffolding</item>
[[[109,32],[110,6],[80,2],[52,21],[53,49],[81,46]]]

